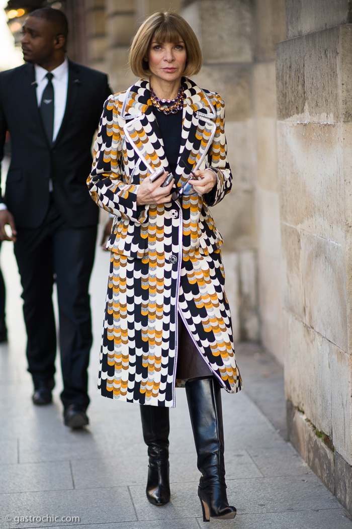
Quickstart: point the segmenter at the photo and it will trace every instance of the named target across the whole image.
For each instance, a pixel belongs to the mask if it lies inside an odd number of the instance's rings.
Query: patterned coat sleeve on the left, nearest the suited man
[[[139,185],[129,184],[125,178],[118,104],[118,96],[110,96],[104,103],[87,186],[98,206],[113,215],[142,223],[148,208],[137,205]]]

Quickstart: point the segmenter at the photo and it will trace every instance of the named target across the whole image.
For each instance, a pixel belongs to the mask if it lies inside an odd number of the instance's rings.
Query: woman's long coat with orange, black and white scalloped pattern
[[[221,385],[241,389],[224,269],[209,206],[229,193],[232,176],[218,94],[184,79],[182,138],[175,181],[211,167],[216,186],[168,204],[138,206],[144,178],[168,170],[149,83],[139,80],[105,102],[94,145],[89,192],[115,215],[107,243],[106,296],[98,390],[127,402],[175,406],[178,318]]]

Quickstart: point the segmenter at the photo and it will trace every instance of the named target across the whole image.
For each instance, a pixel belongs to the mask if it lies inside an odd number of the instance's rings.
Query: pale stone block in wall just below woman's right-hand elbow
[[[232,252],[255,246],[253,193],[233,191],[221,204],[211,208],[216,226],[223,236],[222,250]]]

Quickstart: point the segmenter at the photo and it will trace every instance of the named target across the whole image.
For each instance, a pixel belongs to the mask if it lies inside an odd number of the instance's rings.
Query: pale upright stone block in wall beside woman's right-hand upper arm
[[[225,123],[228,160],[232,171],[232,191],[254,188],[253,122],[228,121]]]

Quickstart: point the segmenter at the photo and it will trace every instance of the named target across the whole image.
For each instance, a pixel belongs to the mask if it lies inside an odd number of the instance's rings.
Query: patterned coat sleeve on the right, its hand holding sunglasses
[[[204,195],[207,206],[215,206],[232,187],[232,174],[227,159],[227,142],[225,138],[225,104],[219,94],[215,94],[216,131],[209,150],[209,169],[216,174],[216,184],[210,193]]]

